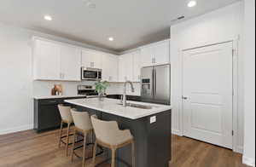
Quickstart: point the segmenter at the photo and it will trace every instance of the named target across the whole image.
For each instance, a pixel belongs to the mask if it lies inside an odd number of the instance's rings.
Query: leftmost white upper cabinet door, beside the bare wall
[[[36,40],[33,49],[34,79],[61,79],[61,48],[55,43]]]

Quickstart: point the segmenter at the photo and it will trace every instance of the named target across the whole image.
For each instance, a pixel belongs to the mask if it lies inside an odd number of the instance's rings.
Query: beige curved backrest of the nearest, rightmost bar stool
[[[119,134],[119,125],[115,121],[102,121],[95,115],[90,117],[96,139],[106,144],[114,143]]]

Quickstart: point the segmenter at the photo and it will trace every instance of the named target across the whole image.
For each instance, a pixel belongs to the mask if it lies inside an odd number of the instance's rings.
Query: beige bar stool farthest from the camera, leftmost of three
[[[61,134],[59,140],[59,147],[61,147],[61,142],[66,145],[66,154],[68,153],[69,136],[70,136],[70,126],[73,124],[73,118],[71,115],[71,107],[65,107],[64,105],[58,105],[59,112],[61,114]],[[63,124],[67,124],[67,135],[62,136]],[[67,137],[67,141],[62,141],[63,138]]]

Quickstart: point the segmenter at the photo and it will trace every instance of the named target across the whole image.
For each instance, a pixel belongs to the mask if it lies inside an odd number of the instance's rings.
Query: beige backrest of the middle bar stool
[[[71,114],[76,128],[84,131],[93,130],[88,112],[79,112],[76,109],[71,109]]]

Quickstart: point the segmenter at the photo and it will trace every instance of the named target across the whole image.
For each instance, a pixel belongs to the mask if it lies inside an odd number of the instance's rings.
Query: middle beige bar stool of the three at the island
[[[75,142],[76,142],[76,137],[77,135],[80,133],[82,135],[84,135],[84,142],[83,142],[83,164],[82,167],[85,166],[85,152],[86,152],[86,138],[88,134],[92,134],[93,135],[93,128],[92,128],[92,124],[90,121],[90,115],[88,112],[78,112],[75,109],[71,109],[71,113],[73,116],[73,122],[75,124],[74,127],[74,136],[73,136],[73,148],[72,148],[72,161],[73,161],[73,154],[74,154],[74,150],[79,148],[75,148]]]

